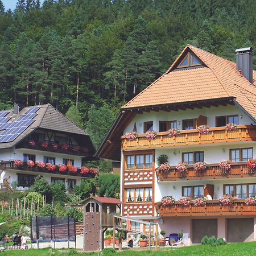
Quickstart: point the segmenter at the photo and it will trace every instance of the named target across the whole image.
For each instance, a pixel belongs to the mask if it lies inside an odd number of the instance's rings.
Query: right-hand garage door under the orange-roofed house
[[[253,218],[228,218],[228,242],[253,240]]]

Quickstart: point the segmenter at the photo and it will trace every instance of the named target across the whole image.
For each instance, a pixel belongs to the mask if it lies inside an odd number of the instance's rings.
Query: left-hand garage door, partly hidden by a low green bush
[[[192,243],[200,243],[204,236],[217,237],[217,218],[192,220]]]

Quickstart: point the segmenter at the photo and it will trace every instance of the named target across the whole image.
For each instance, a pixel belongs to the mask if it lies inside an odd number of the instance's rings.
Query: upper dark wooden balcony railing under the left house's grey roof
[[[42,147],[43,142],[34,141],[35,144],[31,145],[29,141],[22,141],[20,142],[16,148],[29,148],[32,150],[40,150],[40,151],[48,151],[48,152],[55,152],[60,154],[68,154],[68,155],[79,155],[79,156],[88,156],[89,152],[92,150],[86,147],[80,147],[75,145],[67,145],[67,149],[64,150],[61,148],[60,144],[56,144],[57,147],[53,147],[53,143],[48,143],[47,147]]]

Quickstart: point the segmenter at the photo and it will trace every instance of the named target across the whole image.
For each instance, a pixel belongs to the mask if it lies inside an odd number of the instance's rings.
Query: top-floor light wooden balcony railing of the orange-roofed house
[[[175,137],[169,137],[168,132],[158,133],[156,139],[148,141],[145,134],[138,134],[135,141],[127,141],[125,136],[122,139],[122,150],[135,150],[143,148],[159,148],[186,146],[197,144],[212,144],[239,141],[256,141],[256,126],[238,125],[236,130],[227,131],[225,127],[211,127],[209,134],[200,134],[196,129],[182,130]]]

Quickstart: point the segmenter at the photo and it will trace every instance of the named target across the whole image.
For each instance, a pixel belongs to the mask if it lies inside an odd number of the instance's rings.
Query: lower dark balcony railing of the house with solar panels
[[[43,173],[48,173],[48,174],[61,174],[61,175],[71,175],[71,176],[79,176],[79,177],[94,177],[95,174],[89,173],[89,174],[81,174],[81,168],[77,168],[77,172],[60,172],[58,168],[56,168],[55,171],[48,171],[46,168],[39,168],[38,166],[30,167],[27,165],[26,162],[23,163],[23,166],[18,166],[14,164],[13,160],[10,161],[2,161],[0,163],[0,170],[19,170],[19,171],[30,171],[31,174],[33,172],[43,172]]]

